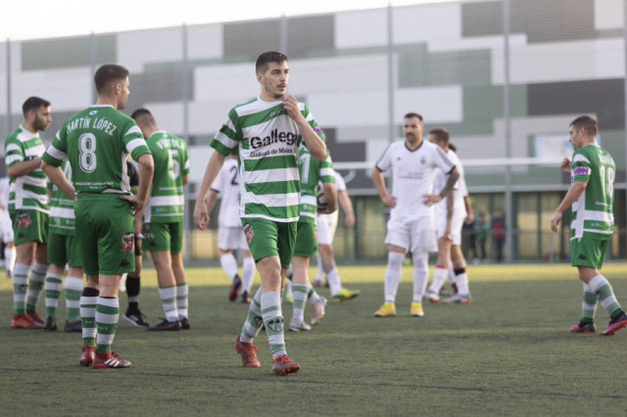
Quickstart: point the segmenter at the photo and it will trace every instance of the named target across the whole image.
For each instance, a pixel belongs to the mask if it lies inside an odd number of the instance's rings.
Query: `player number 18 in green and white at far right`
[[[583,282],[582,318],[571,326],[573,333],[594,333],[597,302],[610,314],[610,325],[599,332],[612,336],[627,326],[627,314],[614,296],[612,285],[598,272],[614,232],[614,179],[616,165],[607,150],[596,143],[598,124],[580,116],[568,129],[573,161],[564,158],[562,171],[571,174],[571,187],[551,218],[551,229],[558,231],[562,214],[573,207],[571,219],[571,265],[577,267]]]

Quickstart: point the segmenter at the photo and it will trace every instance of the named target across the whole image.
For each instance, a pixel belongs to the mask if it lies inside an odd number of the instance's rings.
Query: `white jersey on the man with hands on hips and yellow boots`
[[[431,142],[422,141],[415,150],[409,150],[405,141],[392,143],[376,163],[379,171],[392,168],[392,195],[396,207],[390,212],[390,220],[412,221],[431,216],[432,207],[424,205],[424,196],[433,193],[433,175],[440,168],[449,173],[454,162]]]

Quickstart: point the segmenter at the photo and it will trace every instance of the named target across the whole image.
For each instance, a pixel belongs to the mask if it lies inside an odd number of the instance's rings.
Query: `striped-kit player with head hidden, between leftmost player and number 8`
[[[72,178],[70,162],[61,164],[65,178]],[[83,290],[83,267],[76,239],[74,199],[48,182],[50,196],[50,219],[48,223],[48,262],[46,274],[46,321],[44,329],[56,330],[56,309],[59,307],[59,294],[68,265],[68,275],[63,282],[65,295],[65,331],[82,331],[81,292]]]

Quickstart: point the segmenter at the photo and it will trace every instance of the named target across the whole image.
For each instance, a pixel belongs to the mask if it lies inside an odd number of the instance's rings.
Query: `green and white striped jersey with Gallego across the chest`
[[[316,120],[303,103],[300,112],[324,139]],[[239,146],[238,166],[244,183],[240,217],[272,221],[297,221],[300,213],[300,179],[297,152],[302,135],[283,108],[283,101],[257,97],[233,107],[211,147],[225,157]]]

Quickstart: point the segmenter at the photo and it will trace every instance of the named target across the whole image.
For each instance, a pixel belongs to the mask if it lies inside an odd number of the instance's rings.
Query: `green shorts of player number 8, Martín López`
[[[135,270],[130,203],[114,194],[83,194],[76,200],[76,235],[88,275],[119,275]]]

